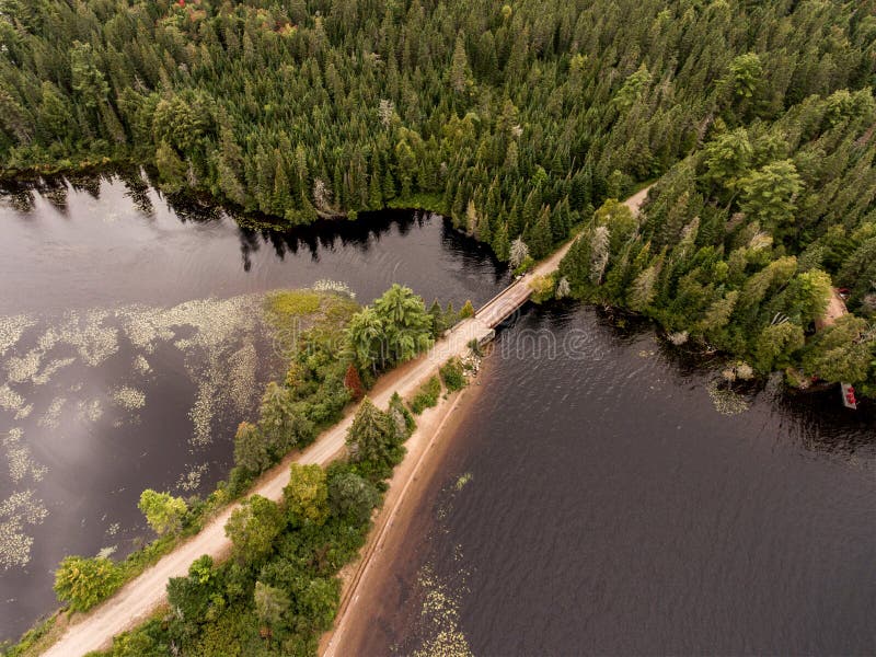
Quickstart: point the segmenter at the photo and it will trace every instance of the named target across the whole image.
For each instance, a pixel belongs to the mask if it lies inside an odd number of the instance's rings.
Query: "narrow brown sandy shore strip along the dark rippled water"
[[[374,639],[376,611],[402,603],[397,591],[389,593],[397,560],[405,558],[408,537],[424,495],[436,476],[441,476],[441,463],[452,446],[460,424],[481,394],[481,379],[472,379],[461,392],[442,400],[417,418],[417,430],[406,442],[407,456],[390,480],[387,499],[362,554],[342,570],[344,580],[341,607],[332,631],[320,642],[320,655],[343,657],[367,655],[367,639]]]

